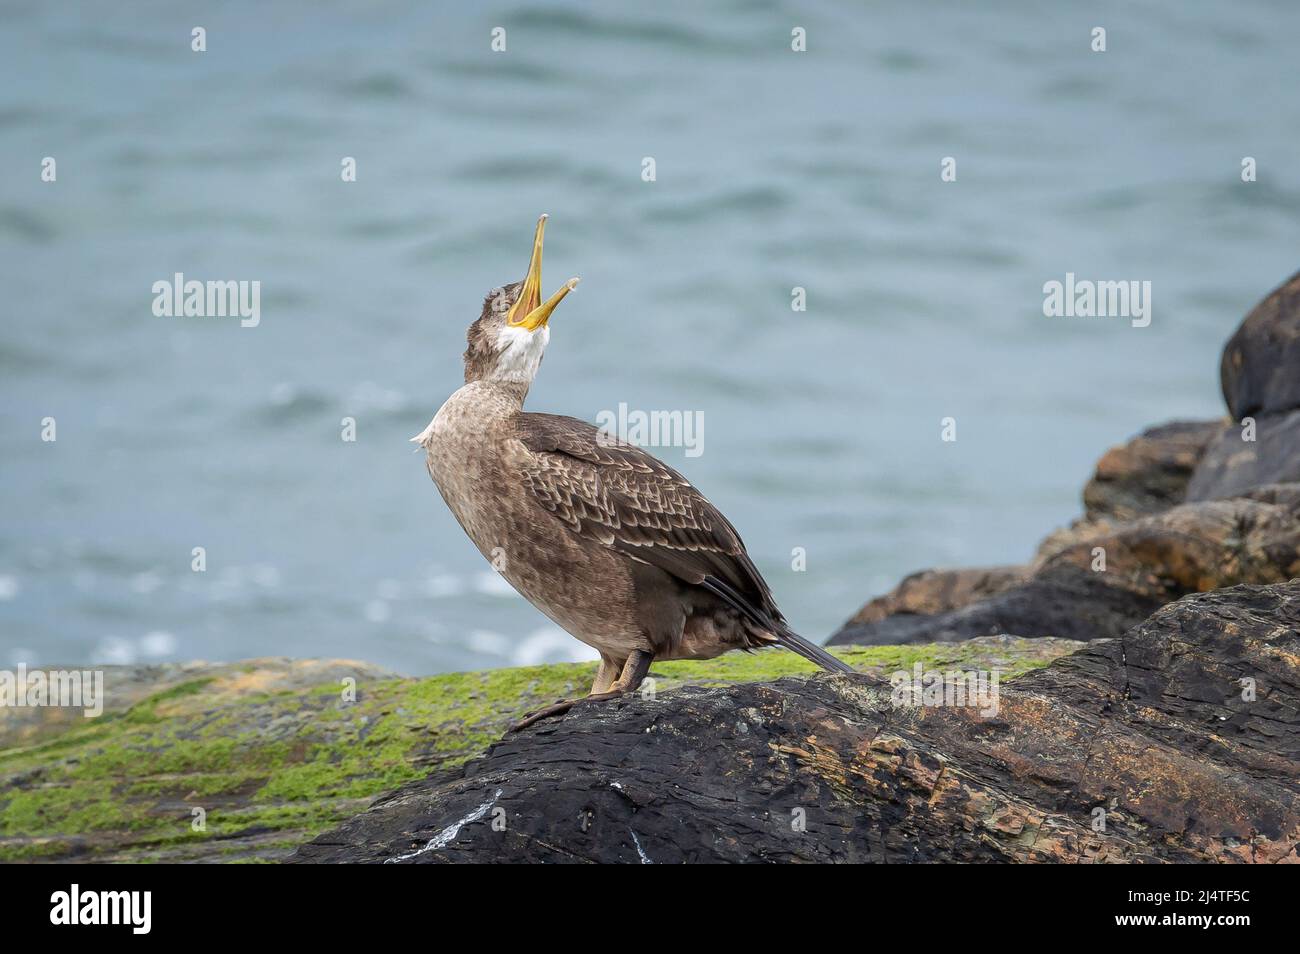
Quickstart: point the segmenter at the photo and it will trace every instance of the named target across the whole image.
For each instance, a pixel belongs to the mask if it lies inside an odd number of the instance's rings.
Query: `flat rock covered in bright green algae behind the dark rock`
[[[1019,673],[1078,646],[1001,637],[838,655],[866,672],[922,659]],[[348,660],[109,667],[105,715],[78,710],[0,750],[0,862],[277,860],[373,797],[481,755],[526,711],[586,691],[593,668],[403,678]],[[671,691],[811,671],[768,651],[659,663],[651,676]]]

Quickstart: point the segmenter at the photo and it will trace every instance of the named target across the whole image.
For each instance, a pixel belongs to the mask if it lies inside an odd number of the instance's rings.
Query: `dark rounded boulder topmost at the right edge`
[[[1219,380],[1235,421],[1300,408],[1300,272],[1245,316],[1223,347]]]

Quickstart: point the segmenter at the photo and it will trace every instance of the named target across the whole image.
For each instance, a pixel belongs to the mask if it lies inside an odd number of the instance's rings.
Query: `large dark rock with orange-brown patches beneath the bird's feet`
[[[1174,603],[996,714],[841,676],[581,706],[290,860],[1297,862],[1297,660],[1292,581]]]

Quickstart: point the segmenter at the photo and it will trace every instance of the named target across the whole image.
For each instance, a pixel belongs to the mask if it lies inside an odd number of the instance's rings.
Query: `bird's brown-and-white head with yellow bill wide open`
[[[551,312],[573,291],[577,278],[569,278],[559,291],[542,302],[542,234],[546,216],[537,220],[533,257],[524,281],[494,289],[484,299],[484,311],[465,335],[465,383],[493,381],[524,385],[533,382],[551,339]]]

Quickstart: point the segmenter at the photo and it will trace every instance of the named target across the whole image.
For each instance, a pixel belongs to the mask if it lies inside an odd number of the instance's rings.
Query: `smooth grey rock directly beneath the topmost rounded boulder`
[[[1300,378],[1300,368],[1295,369]],[[1242,426],[1219,429],[1187,487],[1188,500],[1238,496],[1269,483],[1300,481],[1300,411],[1261,415],[1254,441],[1242,439]]]

